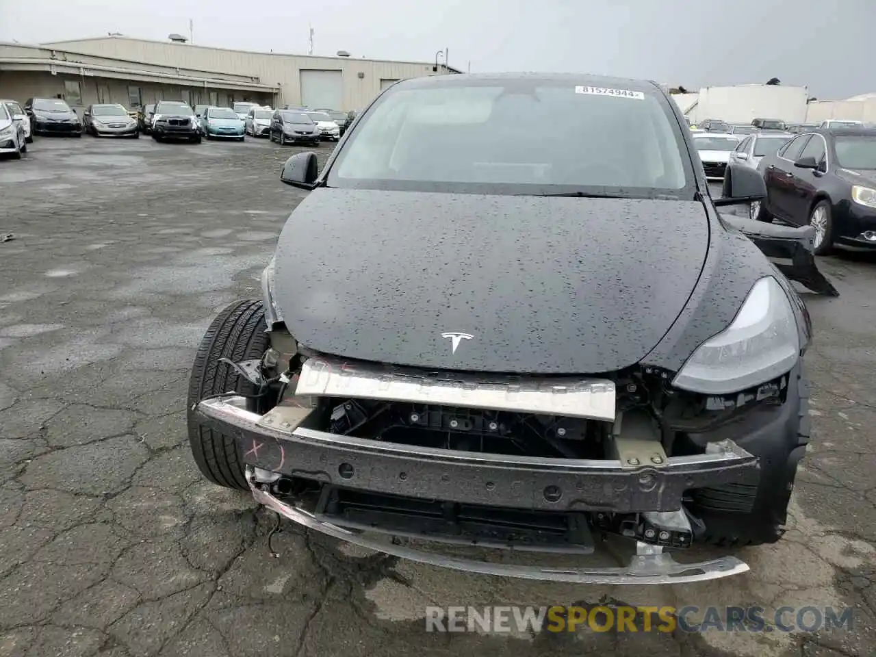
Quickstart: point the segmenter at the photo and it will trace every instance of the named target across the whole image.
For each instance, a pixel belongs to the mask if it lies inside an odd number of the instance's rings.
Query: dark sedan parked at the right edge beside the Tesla
[[[798,135],[760,160],[767,198],[752,216],[815,229],[815,251],[876,249],[876,129],[834,127]]]

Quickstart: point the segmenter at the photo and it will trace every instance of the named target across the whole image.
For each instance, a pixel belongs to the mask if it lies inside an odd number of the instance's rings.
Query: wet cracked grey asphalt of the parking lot
[[[804,295],[814,436],[774,546],[744,576],[587,587],[365,554],[199,477],[185,396],[208,322],[257,298],[304,193],[295,149],[38,138],[0,161],[0,656],[876,653],[876,258]],[[328,149],[321,149],[324,158]],[[302,245],[302,248],[307,248]],[[339,246],[339,248],[342,248]],[[851,606],[851,631],[424,632],[427,604]]]

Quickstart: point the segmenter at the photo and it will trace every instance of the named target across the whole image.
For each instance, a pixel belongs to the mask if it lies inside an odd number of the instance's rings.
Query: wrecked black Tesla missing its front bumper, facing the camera
[[[763,179],[729,166],[713,201],[653,82],[441,75],[356,120],[321,171],[314,152],[286,161],[281,180],[310,194],[261,298],[201,343],[187,407],[202,474],[450,568],[612,584],[747,570],[664,550],[781,537],[811,327],[759,246],[812,231],[732,228],[717,206],[763,198]],[[534,563],[604,534],[631,540],[628,565]],[[448,542],[532,563],[448,558]]]

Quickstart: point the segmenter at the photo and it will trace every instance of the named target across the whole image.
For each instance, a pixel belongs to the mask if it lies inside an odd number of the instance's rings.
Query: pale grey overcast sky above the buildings
[[[433,61],[472,73],[558,71],[700,87],[806,85],[820,98],[876,91],[876,0],[0,0],[0,40],[122,32],[204,46]]]

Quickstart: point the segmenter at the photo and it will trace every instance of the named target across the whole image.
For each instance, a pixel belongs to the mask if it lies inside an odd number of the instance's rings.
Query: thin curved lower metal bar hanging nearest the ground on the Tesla
[[[519,577],[544,582],[566,582],[579,584],[682,584],[739,575],[748,571],[745,562],[733,556],[725,556],[697,563],[679,563],[661,548],[638,544],[637,554],[625,567],[596,568],[550,568],[548,566],[525,566],[513,563],[494,563],[464,559],[457,556],[426,552],[399,545],[391,536],[377,533],[350,531],[316,518],[312,513],[288,505],[275,498],[269,491],[262,490],[255,483],[251,466],[247,466],[247,481],[250,482],[252,496],[259,504],[279,513],[286,519],[314,531],[325,533],[336,539],[345,540],[363,548],[370,548],[387,555],[397,556],[413,562],[427,563],[442,568],[463,570],[482,575]],[[265,486],[265,488],[267,488]]]

